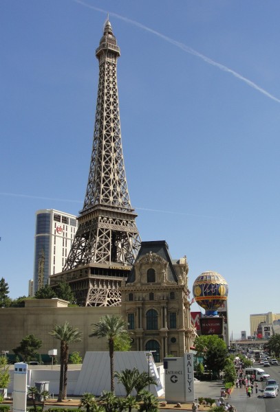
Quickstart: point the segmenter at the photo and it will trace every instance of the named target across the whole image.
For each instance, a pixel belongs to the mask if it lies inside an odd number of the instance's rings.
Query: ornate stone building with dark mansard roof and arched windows
[[[171,260],[165,241],[142,242],[127,282],[121,313],[127,319],[131,350],[148,350],[155,362],[182,356],[193,347],[186,257]]]

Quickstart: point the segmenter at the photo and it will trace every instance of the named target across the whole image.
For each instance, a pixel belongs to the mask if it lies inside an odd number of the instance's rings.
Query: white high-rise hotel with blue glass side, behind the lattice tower
[[[76,216],[54,209],[36,211],[33,293],[63,271],[77,229]]]

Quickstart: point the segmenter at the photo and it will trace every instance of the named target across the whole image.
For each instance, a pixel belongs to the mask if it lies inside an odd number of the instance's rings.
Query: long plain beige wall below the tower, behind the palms
[[[47,301],[50,300],[50,304]],[[56,303],[55,303],[56,301]],[[120,306],[80,308],[59,306],[59,299],[32,300],[30,307],[25,308],[1,308],[0,310],[0,350],[8,350],[10,354],[19,345],[21,339],[28,334],[34,334],[41,339],[42,347],[39,354],[47,354],[51,349],[58,350],[60,354],[60,341],[50,336],[54,325],[61,325],[68,321],[72,326],[82,332],[82,341],[73,343],[69,352],[78,351],[85,356],[87,351],[107,350],[107,342],[95,337],[89,338],[92,324],[98,323],[100,317],[105,314],[120,314]]]

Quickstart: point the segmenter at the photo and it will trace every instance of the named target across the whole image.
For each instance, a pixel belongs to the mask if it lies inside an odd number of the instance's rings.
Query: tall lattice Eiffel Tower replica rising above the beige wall
[[[107,19],[100,45],[99,83],[89,179],[78,229],[63,272],[50,286],[67,282],[80,306],[120,306],[120,286],[140,249],[122,155],[116,76],[117,45]]]

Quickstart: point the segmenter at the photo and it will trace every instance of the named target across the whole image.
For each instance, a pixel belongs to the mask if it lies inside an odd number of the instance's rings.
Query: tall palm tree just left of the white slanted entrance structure
[[[61,341],[61,374],[59,378],[58,402],[67,397],[67,369],[70,343],[80,342],[81,332],[78,328],[73,328],[67,321],[64,325],[54,325],[54,329],[49,332],[55,339]]]

